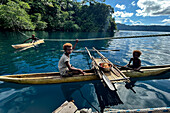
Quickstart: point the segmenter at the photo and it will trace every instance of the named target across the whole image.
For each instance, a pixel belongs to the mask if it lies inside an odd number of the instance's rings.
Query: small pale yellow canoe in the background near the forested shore
[[[25,48],[25,47],[34,47],[35,45],[44,43],[44,39],[41,40],[37,40],[34,43],[24,43],[24,44],[16,44],[16,45],[11,45],[13,48],[15,49],[19,49],[19,48]]]

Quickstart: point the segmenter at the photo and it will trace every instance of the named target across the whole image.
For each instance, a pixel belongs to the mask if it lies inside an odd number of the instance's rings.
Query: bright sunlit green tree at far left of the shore
[[[22,8],[21,8],[22,7]],[[6,5],[0,5],[0,28],[9,30],[34,30],[28,13],[29,5],[24,2],[9,1]]]

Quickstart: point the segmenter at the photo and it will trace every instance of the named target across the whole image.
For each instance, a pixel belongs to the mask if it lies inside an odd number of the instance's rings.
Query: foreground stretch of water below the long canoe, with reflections
[[[133,81],[132,81],[133,82]],[[0,113],[51,113],[65,100],[74,100],[79,109],[104,108],[141,109],[169,105],[169,79],[133,82],[136,93],[117,84],[117,91],[110,91],[100,81],[52,85],[1,84]],[[166,87],[166,88],[165,88]]]

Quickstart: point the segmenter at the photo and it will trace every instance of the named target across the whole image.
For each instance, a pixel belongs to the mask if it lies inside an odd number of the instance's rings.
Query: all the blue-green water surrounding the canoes
[[[113,33],[63,33],[63,32],[24,32],[36,34],[43,39],[80,39],[111,36],[134,36],[165,34],[166,32],[120,31]],[[46,41],[36,48],[16,51],[12,44],[19,44],[26,39],[19,32],[0,32],[0,74],[40,73],[58,71],[60,52],[65,43]],[[170,64],[170,37],[150,37],[133,39],[111,39],[79,42],[76,49],[119,49],[120,51],[102,52],[115,64],[125,65],[132,57],[133,50],[141,50],[143,66]],[[74,42],[71,42],[74,44]],[[98,57],[96,53],[92,53]],[[71,64],[81,69],[90,68],[87,53],[72,53]],[[166,76],[169,76],[167,73]],[[163,75],[165,76],[165,75]],[[102,105],[111,105],[116,109],[133,109],[170,106],[169,79],[142,79],[135,82],[133,93],[118,84],[117,92],[109,92],[100,81],[64,83],[51,85],[22,85],[0,82],[0,113],[51,113],[65,100],[75,100],[79,109],[93,108],[100,110]],[[103,102],[99,97],[103,96]],[[102,106],[103,107],[103,106]],[[93,111],[95,109],[93,108]]]

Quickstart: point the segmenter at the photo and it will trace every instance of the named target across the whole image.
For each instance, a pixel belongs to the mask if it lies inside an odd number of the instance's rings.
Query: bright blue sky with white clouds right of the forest
[[[114,8],[116,23],[170,25],[170,0],[105,0]]]

